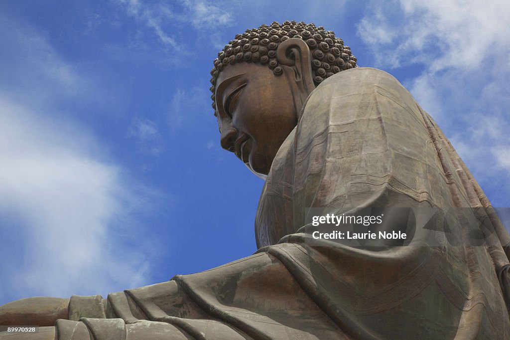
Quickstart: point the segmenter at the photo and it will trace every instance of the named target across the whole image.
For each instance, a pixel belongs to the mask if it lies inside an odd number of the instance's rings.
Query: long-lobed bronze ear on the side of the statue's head
[[[290,66],[294,70],[300,92],[304,92],[308,96],[315,89],[312,55],[304,40],[291,38],[279,44],[276,49],[276,60],[279,64]]]

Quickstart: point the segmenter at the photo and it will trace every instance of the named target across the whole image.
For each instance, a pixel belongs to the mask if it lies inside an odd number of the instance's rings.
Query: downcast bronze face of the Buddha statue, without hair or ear
[[[285,72],[275,76],[267,66],[252,63],[228,65],[218,75],[221,147],[256,173],[269,173],[276,152],[297,124],[301,102],[294,100],[289,81]]]

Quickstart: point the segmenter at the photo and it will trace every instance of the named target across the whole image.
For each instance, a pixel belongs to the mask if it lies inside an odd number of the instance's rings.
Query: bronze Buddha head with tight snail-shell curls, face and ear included
[[[273,22],[236,35],[211,70],[221,147],[267,175],[308,95],[352,67],[356,58],[349,46],[313,23]]]

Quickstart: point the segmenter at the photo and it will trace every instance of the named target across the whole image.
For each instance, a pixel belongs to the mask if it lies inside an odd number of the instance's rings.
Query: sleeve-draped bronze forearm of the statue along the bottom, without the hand
[[[282,247],[302,254],[299,247]],[[107,299],[73,296],[69,319],[56,322],[58,339],[297,338],[311,328],[319,338],[342,338],[282,262],[265,251]],[[317,323],[322,328],[315,329]]]

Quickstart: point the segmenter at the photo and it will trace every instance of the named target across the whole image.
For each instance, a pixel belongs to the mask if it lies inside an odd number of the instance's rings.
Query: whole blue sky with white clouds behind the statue
[[[510,3],[0,2],[0,304],[106,295],[256,251],[262,180],[219,147],[237,33],[314,22],[389,71],[494,206],[510,196]]]

